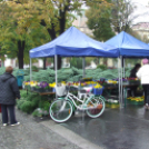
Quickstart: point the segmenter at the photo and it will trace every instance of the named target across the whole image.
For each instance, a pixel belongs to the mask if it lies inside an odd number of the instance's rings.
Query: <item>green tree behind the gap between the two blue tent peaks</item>
[[[96,4],[87,11],[88,27],[93,30],[96,39],[106,41],[115,36],[115,32],[130,31],[133,18],[130,14],[135,7],[130,0],[107,0],[110,4]]]

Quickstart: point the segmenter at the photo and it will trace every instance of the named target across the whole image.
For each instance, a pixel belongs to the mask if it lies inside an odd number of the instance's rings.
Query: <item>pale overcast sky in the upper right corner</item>
[[[132,23],[149,22],[149,0],[131,0],[131,2],[137,7],[131,17],[138,16]]]

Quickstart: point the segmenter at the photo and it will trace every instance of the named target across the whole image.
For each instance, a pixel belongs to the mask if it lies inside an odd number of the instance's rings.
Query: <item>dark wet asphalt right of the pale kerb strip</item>
[[[142,106],[106,109],[97,119],[81,115],[71,118],[63,127],[106,149],[149,148],[149,111]]]

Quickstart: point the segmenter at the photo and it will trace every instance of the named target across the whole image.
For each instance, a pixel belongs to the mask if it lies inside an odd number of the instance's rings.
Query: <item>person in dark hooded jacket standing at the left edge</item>
[[[12,67],[7,67],[6,72],[0,76],[0,105],[3,126],[8,126],[9,118],[11,126],[20,125],[20,122],[16,120],[14,112],[16,99],[20,99],[20,91],[16,77],[11,74],[12,71]]]

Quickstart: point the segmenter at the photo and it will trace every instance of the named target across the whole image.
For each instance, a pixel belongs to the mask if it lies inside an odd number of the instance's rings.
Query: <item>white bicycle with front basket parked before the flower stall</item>
[[[70,93],[69,90],[78,91],[78,97]],[[78,89],[73,86],[61,86],[56,88],[56,92],[60,96],[54,100],[49,109],[50,117],[56,122],[64,122],[76,109],[83,110],[90,118],[98,118],[105,111],[105,98],[91,93],[92,87]],[[64,96],[64,97],[61,97]]]

